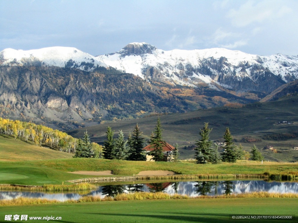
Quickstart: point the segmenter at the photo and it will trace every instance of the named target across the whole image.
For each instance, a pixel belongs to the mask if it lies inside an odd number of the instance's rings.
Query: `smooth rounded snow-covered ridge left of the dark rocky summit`
[[[90,70],[92,65],[107,66],[98,61],[94,56],[73,47],[48,47],[27,51],[8,48],[1,51],[1,57],[0,59],[4,65],[24,65],[26,63],[35,65],[36,62],[40,61],[46,66],[58,67],[65,67],[68,63],[67,65],[69,67],[77,65],[77,68],[82,70]]]

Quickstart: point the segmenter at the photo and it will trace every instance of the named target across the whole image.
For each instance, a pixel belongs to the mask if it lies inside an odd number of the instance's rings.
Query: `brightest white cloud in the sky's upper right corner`
[[[237,27],[244,27],[251,23],[260,23],[276,17],[282,17],[291,12],[291,8],[282,5],[282,1],[247,1],[238,9],[229,10],[227,17]]]

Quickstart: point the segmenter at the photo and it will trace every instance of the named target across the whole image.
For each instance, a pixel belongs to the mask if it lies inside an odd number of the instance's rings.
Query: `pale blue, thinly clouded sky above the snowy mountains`
[[[146,42],[298,55],[297,0],[0,0],[0,51],[75,47],[93,56]]]

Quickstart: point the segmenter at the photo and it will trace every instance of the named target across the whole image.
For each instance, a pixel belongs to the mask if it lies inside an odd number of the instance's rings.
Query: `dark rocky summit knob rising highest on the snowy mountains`
[[[125,56],[153,54],[157,48],[148,43],[129,43],[122,48],[122,54]]]

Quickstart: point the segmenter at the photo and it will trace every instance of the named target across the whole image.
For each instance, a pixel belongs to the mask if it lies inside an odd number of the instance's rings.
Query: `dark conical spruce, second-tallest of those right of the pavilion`
[[[233,136],[231,135],[229,128],[226,128],[226,132],[224,134],[224,142],[224,152],[221,154],[222,161],[235,163],[237,160],[235,153],[235,145],[233,141]]]

